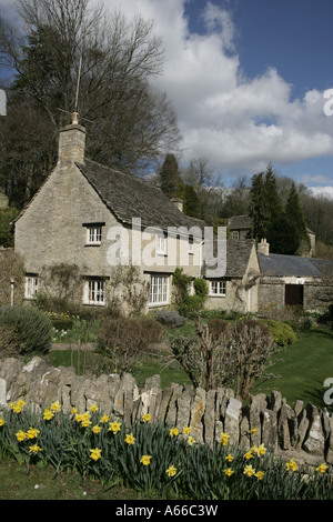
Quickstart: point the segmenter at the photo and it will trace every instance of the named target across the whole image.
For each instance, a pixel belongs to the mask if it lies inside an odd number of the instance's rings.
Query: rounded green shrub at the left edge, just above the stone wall
[[[12,327],[20,343],[20,354],[47,352],[52,339],[52,323],[34,307],[2,307],[0,325]]]

